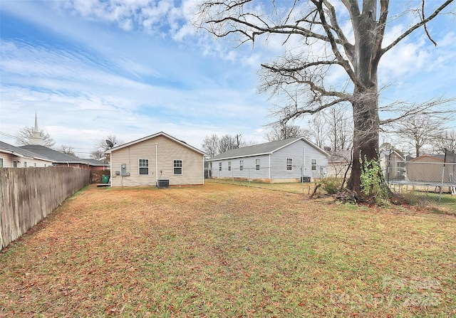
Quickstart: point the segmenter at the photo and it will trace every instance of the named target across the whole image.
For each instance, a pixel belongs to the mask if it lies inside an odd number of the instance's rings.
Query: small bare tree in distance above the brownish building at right
[[[405,117],[398,122],[398,139],[405,141],[415,150],[419,157],[423,147],[431,146],[442,132],[442,119],[424,115]]]

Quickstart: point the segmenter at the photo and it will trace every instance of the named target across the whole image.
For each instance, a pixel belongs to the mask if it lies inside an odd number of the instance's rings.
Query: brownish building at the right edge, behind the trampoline
[[[445,163],[445,169],[444,169]],[[456,181],[456,160],[444,154],[423,154],[405,163],[408,181],[454,183]]]

